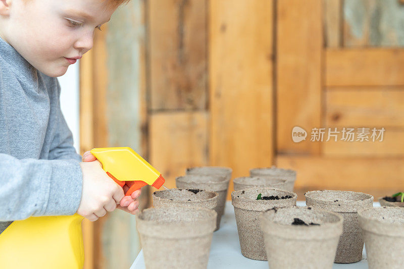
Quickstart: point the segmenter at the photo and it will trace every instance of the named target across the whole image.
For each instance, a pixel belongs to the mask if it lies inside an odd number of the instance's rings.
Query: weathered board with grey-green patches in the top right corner
[[[343,46],[403,46],[404,6],[397,0],[344,0]]]

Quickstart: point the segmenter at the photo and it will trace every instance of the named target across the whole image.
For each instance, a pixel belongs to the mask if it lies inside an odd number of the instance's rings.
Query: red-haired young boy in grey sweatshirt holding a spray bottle
[[[75,152],[56,78],[123,2],[0,0],[0,233],[30,216],[138,212],[140,190],[124,197],[91,153]]]

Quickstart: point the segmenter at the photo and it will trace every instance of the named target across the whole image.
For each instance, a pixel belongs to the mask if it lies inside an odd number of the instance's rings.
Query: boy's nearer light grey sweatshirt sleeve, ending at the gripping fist
[[[0,153],[0,221],[71,215],[81,200],[82,172],[72,159],[17,159]]]

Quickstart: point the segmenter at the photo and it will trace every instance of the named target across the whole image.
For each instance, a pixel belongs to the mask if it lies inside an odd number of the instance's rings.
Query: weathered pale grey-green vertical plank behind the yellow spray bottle
[[[145,98],[144,2],[134,0],[120,7],[103,29],[107,51],[108,84],[104,117],[108,146],[129,146],[143,157],[147,150]],[[139,208],[148,207],[148,188],[143,187]],[[97,268],[129,268],[140,251],[133,215],[109,212],[97,221]],[[119,251],[117,251],[119,249]]]

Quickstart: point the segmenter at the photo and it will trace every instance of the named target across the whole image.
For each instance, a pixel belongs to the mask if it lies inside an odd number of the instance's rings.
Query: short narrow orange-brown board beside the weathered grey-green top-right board
[[[326,47],[342,46],[342,0],[324,1],[324,39]]]

